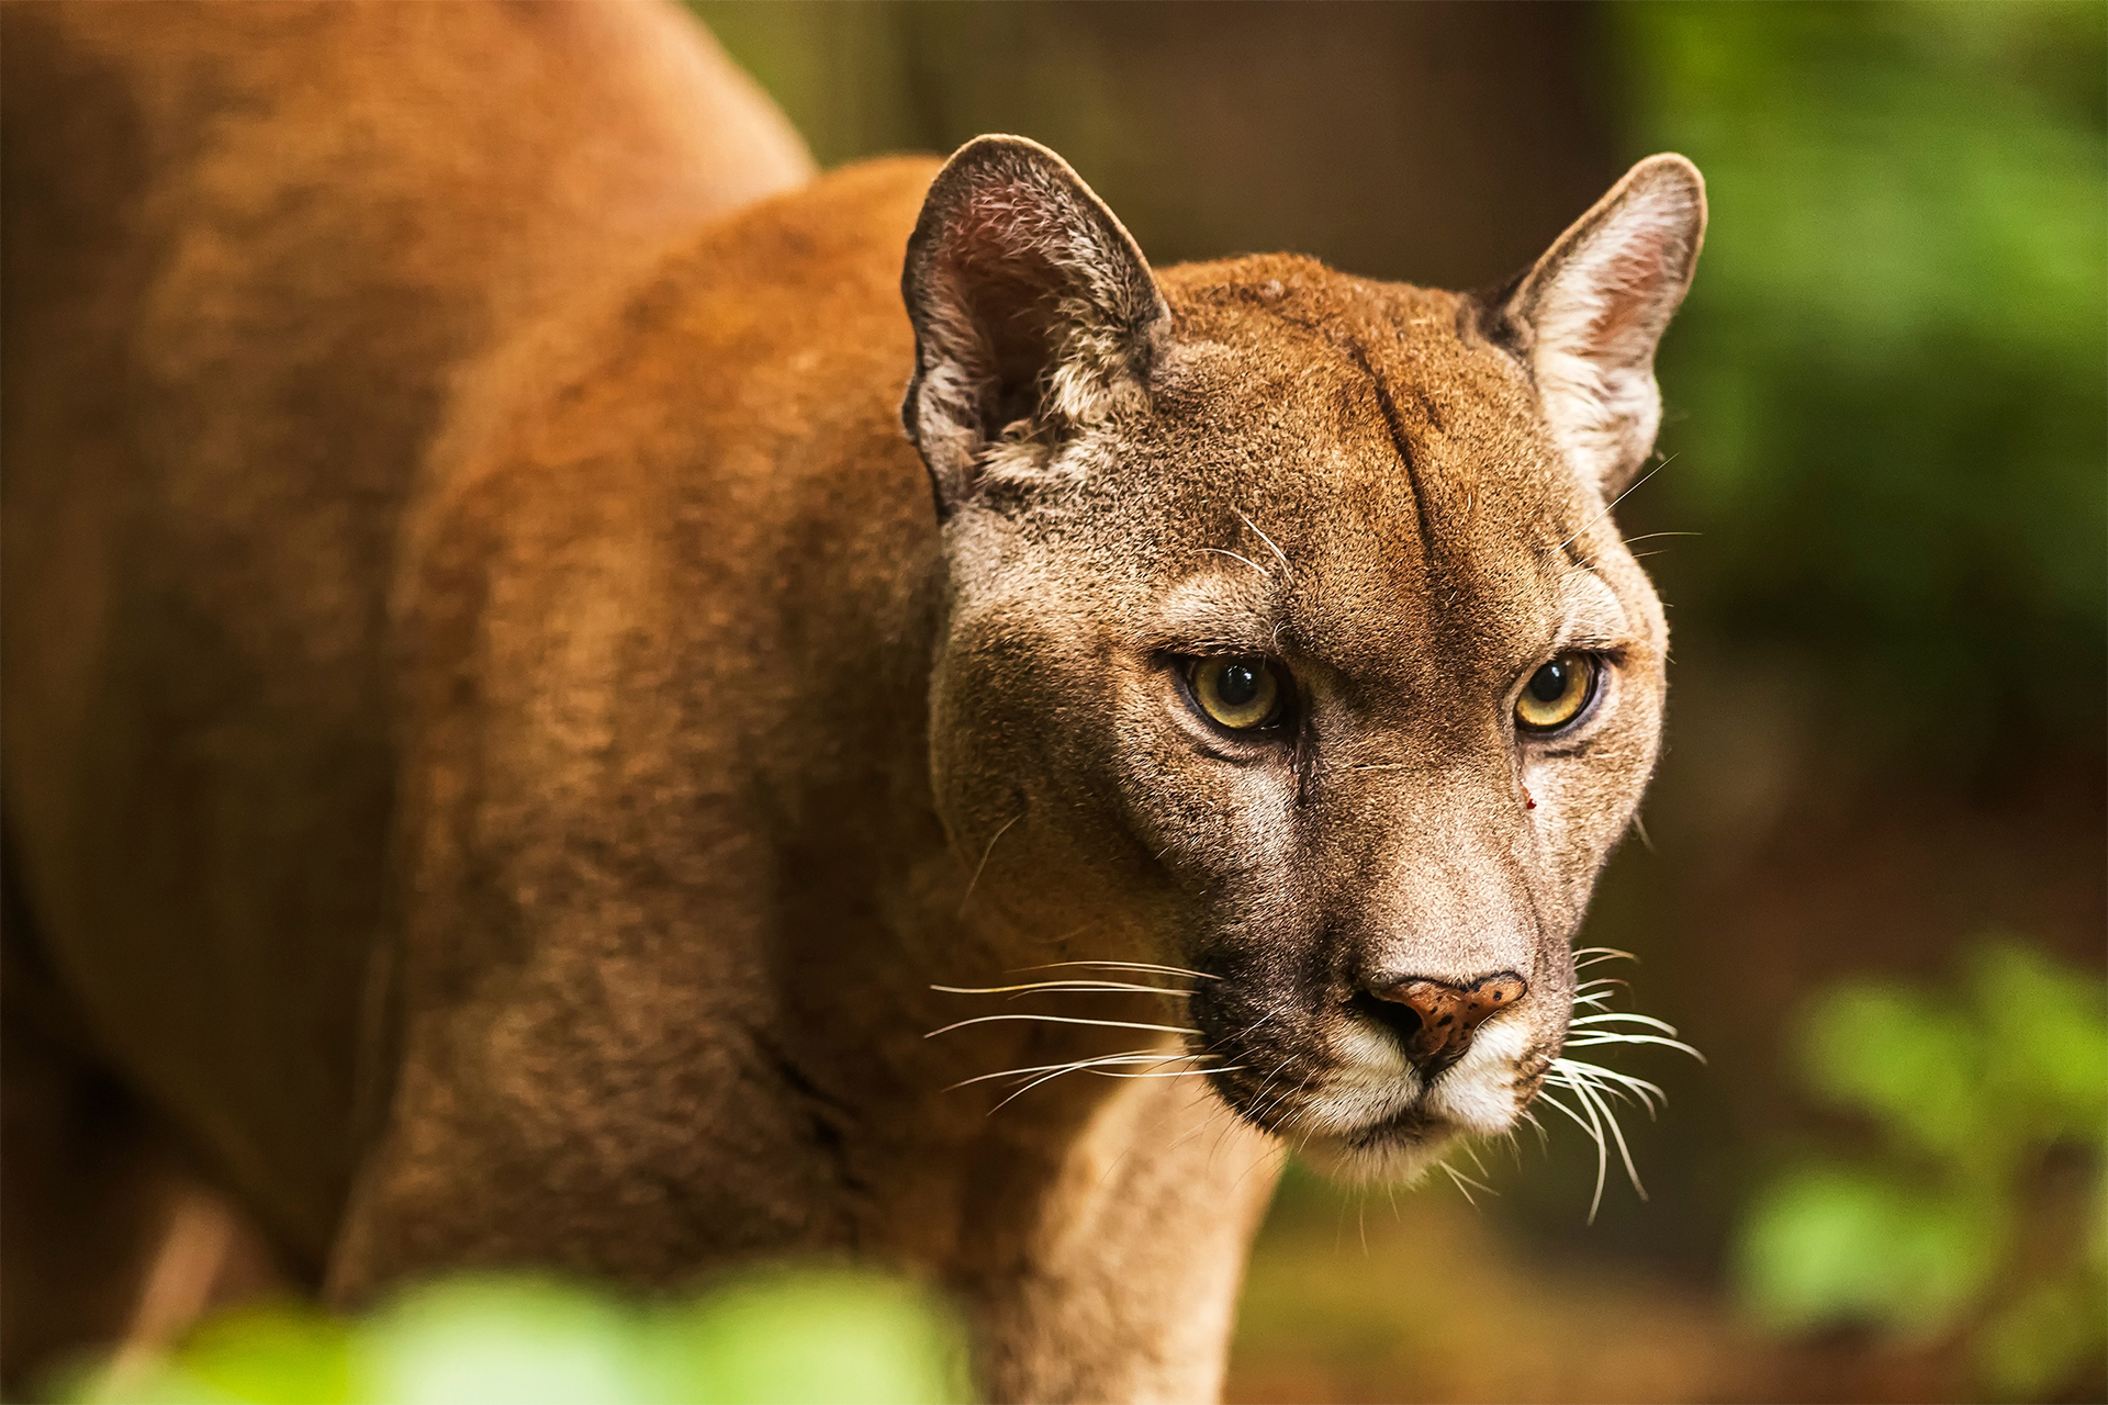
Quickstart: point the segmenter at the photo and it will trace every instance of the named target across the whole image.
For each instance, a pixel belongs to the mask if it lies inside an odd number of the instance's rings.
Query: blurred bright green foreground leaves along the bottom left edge
[[[274,1304],[175,1352],[82,1376],[80,1405],[759,1405],[968,1401],[965,1348],[923,1293],[845,1270],[765,1272],[637,1304],[542,1277],[428,1283],[367,1319]]]

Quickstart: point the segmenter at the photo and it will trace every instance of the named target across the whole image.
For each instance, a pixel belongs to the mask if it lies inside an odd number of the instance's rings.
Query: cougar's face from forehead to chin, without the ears
[[[1166,274],[1149,396],[951,522],[938,788],[1062,954],[1199,973],[1231,1108],[1400,1175],[1560,1049],[1665,630],[1463,303],[1303,268]]]

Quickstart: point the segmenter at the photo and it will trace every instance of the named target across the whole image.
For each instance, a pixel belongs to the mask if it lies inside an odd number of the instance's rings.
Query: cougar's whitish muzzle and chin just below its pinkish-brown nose
[[[1423,1079],[1395,1045],[1355,1030],[1341,1041],[1341,1062],[1311,1097],[1301,1123],[1311,1129],[1301,1156],[1345,1182],[1410,1182],[1463,1137],[1507,1131],[1522,1114],[1528,1030],[1492,1024],[1457,1064]]]

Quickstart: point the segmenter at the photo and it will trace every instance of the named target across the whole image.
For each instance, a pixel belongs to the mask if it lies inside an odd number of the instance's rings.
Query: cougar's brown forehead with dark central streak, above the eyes
[[[1159,546],[1136,556],[1155,586],[1202,567],[1202,548],[1263,550],[1263,531],[1288,556],[1256,565],[1284,577],[1271,594],[1299,642],[1355,672],[1429,653],[1511,668],[1577,590],[1617,613],[1568,550],[1596,503],[1522,369],[1461,329],[1463,299],[1301,259],[1189,265],[1166,284],[1176,339],[1147,442],[1121,453],[1138,476],[1191,484],[1132,484],[1157,499]]]

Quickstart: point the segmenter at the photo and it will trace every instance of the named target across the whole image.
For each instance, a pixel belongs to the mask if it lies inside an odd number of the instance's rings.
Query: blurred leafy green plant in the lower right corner
[[[1798,1030],[1804,1087],[1878,1131],[1859,1161],[1779,1175],[1741,1234],[1741,1287],[1771,1325],[1859,1323],[1969,1340],[1982,1384],[2036,1397],[2108,1350],[2108,988],[2005,939],[1960,990],[1823,992]],[[2083,1232],[2024,1251],[2053,1148],[2091,1156]]]

